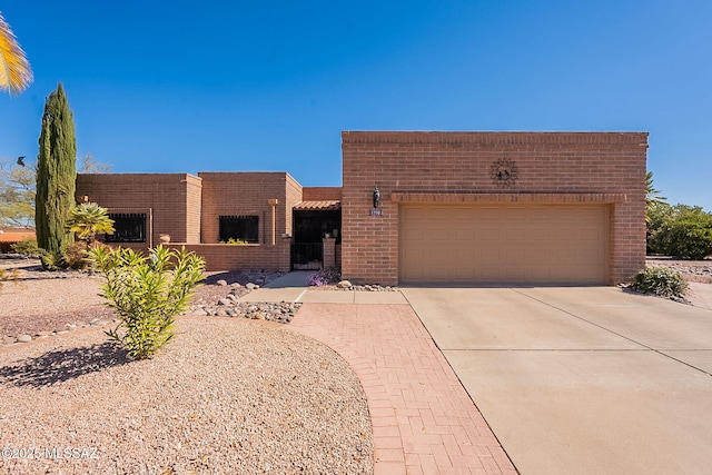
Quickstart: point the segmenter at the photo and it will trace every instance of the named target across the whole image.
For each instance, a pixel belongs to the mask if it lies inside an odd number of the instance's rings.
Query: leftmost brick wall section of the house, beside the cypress
[[[198,243],[200,178],[188,174],[78,174],[77,197],[87,196],[110,212],[146,212],[147,248],[159,234],[176,243]],[[152,217],[152,219],[151,219]]]

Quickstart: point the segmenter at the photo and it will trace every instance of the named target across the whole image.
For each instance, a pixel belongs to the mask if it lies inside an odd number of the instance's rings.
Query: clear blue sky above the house
[[[342,130],[649,131],[672,204],[712,211],[712,1],[1,1],[34,82],[0,157],[37,157],[65,85],[117,172],[340,185]]]

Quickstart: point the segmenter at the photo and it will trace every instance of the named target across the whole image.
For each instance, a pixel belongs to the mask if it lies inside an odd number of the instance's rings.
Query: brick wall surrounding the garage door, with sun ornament
[[[342,135],[342,268],[397,284],[398,204],[599,202],[611,207],[610,283],[645,264],[645,132],[359,132]],[[510,160],[503,188],[493,166]],[[369,216],[380,191],[382,216]]]

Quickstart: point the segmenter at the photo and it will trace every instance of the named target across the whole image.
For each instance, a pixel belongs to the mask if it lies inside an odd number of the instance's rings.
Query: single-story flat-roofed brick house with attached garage
[[[287,172],[111,174],[79,175],[77,192],[118,219],[110,240],[146,248],[169,234],[210,269],[610,285],[644,267],[645,132],[346,131],[342,144],[343,187]],[[243,244],[219,244],[229,238]]]

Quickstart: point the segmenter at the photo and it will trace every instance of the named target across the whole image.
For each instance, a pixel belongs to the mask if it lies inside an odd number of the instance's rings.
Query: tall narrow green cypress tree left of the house
[[[77,139],[75,119],[61,82],[44,103],[37,158],[34,225],[37,244],[57,265],[72,235],[69,210],[75,206]],[[48,264],[44,263],[46,267]]]

